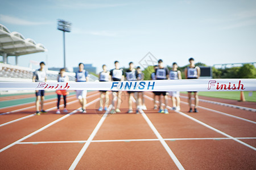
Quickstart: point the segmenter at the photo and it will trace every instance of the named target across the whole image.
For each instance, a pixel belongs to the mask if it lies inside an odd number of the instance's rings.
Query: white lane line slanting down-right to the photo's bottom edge
[[[181,165],[181,163],[179,162],[179,160],[176,158],[176,156],[174,155],[174,152],[172,152],[171,148],[167,145],[166,141],[164,141],[163,137],[159,134],[158,130],[156,130],[155,126],[152,124],[152,122],[150,121],[150,119],[147,117],[147,115],[142,111],[142,109],[139,110],[143,116],[143,118],[146,120],[147,124],[150,126],[150,128],[152,129],[152,131],[154,131],[156,137],[158,137],[158,139],[160,140],[160,142],[162,143],[163,147],[166,149],[166,151],[168,152],[168,154],[171,156],[171,159],[174,161],[174,163],[176,164],[177,168],[179,169],[184,169],[184,167]]]

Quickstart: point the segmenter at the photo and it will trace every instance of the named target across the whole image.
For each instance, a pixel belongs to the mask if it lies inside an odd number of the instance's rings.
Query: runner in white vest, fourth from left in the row
[[[107,70],[106,65],[102,65],[103,71],[99,74],[100,82],[109,82],[110,81],[110,72]],[[103,111],[103,98],[105,95],[105,107],[104,111],[108,110],[108,105],[109,105],[109,91],[103,91],[100,90],[100,108],[98,111]]]

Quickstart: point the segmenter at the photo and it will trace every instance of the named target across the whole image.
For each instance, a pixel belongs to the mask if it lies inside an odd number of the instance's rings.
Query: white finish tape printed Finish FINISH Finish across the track
[[[256,79],[181,79],[122,82],[0,82],[0,90],[256,91]]]

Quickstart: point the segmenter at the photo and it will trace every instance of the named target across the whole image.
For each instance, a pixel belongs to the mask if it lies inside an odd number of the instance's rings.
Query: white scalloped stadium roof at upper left
[[[22,56],[46,51],[43,44],[36,44],[32,39],[25,39],[19,32],[10,32],[5,25],[0,24],[1,56]]]

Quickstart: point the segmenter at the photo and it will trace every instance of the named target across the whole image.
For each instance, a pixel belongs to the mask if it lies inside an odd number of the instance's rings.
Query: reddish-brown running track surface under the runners
[[[140,114],[126,113],[126,92],[117,114],[97,111],[96,91],[88,93],[85,114],[76,112],[75,96],[68,97],[69,114],[54,114],[56,100],[47,100],[48,113],[41,116],[33,114],[34,104],[0,109],[14,111],[0,115],[0,169],[256,168],[255,112],[200,102],[199,113],[188,113],[181,97],[180,112],[163,114],[152,109],[152,93],[145,94],[147,110]],[[200,99],[256,108],[255,103]]]

